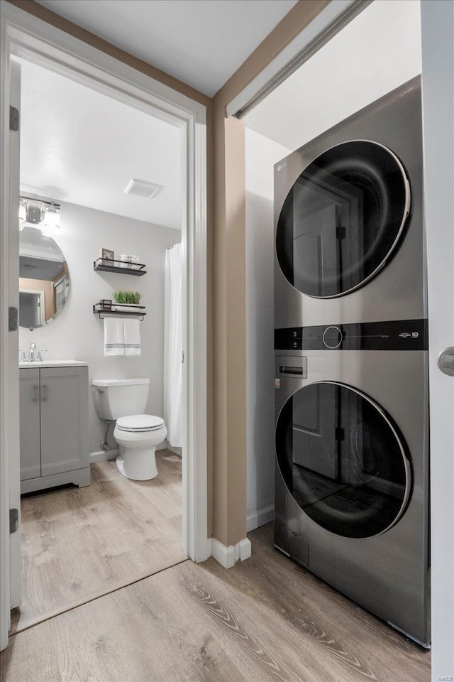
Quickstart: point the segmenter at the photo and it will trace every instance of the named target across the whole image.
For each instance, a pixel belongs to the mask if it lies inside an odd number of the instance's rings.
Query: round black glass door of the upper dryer
[[[392,151],[365,140],[328,149],[299,175],[282,207],[282,273],[315,298],[353,291],[384,266],[410,204],[409,181]]]

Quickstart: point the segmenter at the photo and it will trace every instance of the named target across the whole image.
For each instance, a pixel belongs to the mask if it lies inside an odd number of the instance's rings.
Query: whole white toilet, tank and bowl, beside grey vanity
[[[167,428],[162,417],[143,413],[150,379],[94,379],[92,386],[99,418],[116,420],[118,471],[136,481],[154,478],[156,445],[165,440]]]

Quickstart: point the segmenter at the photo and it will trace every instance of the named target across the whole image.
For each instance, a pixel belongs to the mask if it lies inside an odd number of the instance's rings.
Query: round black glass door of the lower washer
[[[402,437],[356,389],[328,381],[299,389],[279,414],[276,453],[299,507],[336,535],[372,537],[404,513],[411,471]]]

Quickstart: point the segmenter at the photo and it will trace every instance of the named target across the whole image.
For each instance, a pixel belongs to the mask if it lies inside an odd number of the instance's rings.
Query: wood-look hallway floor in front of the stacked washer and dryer
[[[428,682],[430,654],[253,531],[225,570],[186,561],[11,637],[4,682]]]

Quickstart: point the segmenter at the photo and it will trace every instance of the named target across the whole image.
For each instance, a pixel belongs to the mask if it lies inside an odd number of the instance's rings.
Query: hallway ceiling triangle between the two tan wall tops
[[[213,97],[297,0],[38,0]]]

